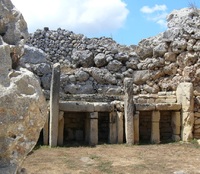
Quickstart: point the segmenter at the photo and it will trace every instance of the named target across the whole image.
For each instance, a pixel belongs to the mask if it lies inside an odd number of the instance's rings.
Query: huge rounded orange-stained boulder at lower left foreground
[[[37,143],[47,106],[31,72],[11,71],[8,78],[9,86],[0,84],[0,171],[15,173]]]

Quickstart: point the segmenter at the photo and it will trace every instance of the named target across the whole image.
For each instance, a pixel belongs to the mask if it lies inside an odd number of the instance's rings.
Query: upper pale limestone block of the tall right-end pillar
[[[182,105],[184,112],[194,110],[193,84],[189,82],[180,83],[176,90],[177,102]]]

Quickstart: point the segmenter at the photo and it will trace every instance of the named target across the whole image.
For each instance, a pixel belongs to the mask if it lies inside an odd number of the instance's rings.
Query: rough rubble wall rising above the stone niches
[[[200,138],[200,11],[174,10],[167,22],[165,32],[131,46],[120,45],[112,38],[87,38],[46,27],[30,35],[25,49],[26,53],[33,51],[30,46],[39,48],[43,55],[46,53],[46,59],[37,57],[38,62],[26,62],[29,57],[25,54],[21,65],[40,77],[47,99],[51,66],[56,62],[61,64],[63,98],[69,94],[123,95],[123,81],[129,77],[133,78],[137,102],[174,103],[174,94],[167,98],[159,94],[176,91],[181,82],[191,82],[195,103],[193,133]],[[152,97],[145,99],[141,95]]]

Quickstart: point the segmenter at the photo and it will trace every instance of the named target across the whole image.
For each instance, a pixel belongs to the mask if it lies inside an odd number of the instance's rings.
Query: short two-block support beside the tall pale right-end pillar
[[[180,141],[180,134],[181,134],[181,114],[180,112],[172,112],[172,119],[171,119],[171,126],[172,126],[172,140],[173,141]]]

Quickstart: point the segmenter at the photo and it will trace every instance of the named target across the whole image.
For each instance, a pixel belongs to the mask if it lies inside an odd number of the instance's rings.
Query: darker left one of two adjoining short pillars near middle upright
[[[109,115],[109,143],[117,143],[117,113],[111,112]]]

